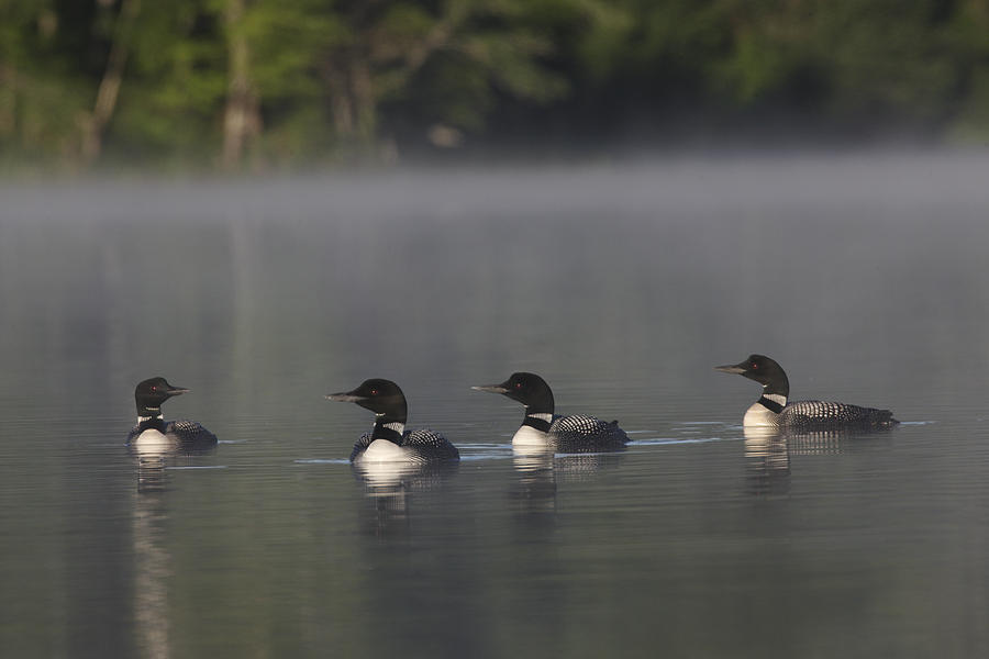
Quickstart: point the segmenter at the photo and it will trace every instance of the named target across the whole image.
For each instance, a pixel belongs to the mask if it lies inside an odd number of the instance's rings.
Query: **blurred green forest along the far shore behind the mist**
[[[989,142],[989,0],[0,0],[0,172]]]

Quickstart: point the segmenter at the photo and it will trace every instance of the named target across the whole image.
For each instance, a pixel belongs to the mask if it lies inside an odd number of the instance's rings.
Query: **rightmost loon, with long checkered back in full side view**
[[[715,370],[737,373],[763,386],[763,395],[746,412],[745,427],[778,427],[797,431],[840,428],[885,428],[900,423],[889,410],[859,407],[847,403],[796,401],[787,403],[790,381],[787,373],[765,355],[749,355],[735,365],[716,366]]]

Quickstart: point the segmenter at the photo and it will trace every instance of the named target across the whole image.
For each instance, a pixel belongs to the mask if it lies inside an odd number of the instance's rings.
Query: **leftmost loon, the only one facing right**
[[[216,436],[195,421],[165,421],[162,403],[188,389],[173,387],[165,378],[151,378],[137,383],[137,425],[127,434],[127,444],[148,447],[203,448],[214,446]]]

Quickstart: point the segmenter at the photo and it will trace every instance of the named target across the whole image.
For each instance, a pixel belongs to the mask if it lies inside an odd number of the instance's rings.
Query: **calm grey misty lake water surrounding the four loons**
[[[989,157],[0,190],[4,657],[989,656]],[[746,437],[792,394],[889,407]],[[543,375],[620,455],[526,459]],[[124,447],[134,384],[201,456]],[[399,382],[456,469],[346,463]]]

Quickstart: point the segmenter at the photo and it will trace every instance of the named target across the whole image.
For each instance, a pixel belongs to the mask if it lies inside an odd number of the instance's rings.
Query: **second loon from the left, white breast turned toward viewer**
[[[375,427],[354,445],[352,462],[459,460],[457,448],[430,429],[405,431],[405,395],[391,380],[365,380],[353,391],[330,393],[331,401],[357,403],[375,413]]]

